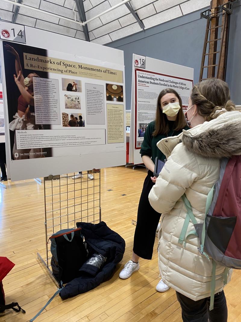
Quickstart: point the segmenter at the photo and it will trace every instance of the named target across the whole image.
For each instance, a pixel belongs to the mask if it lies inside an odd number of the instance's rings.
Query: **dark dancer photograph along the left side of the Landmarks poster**
[[[51,148],[17,149],[16,130],[50,129],[47,124],[36,124],[33,78],[48,79],[48,73],[24,69],[24,52],[46,56],[46,50],[3,42],[9,137],[12,160],[52,156]]]

